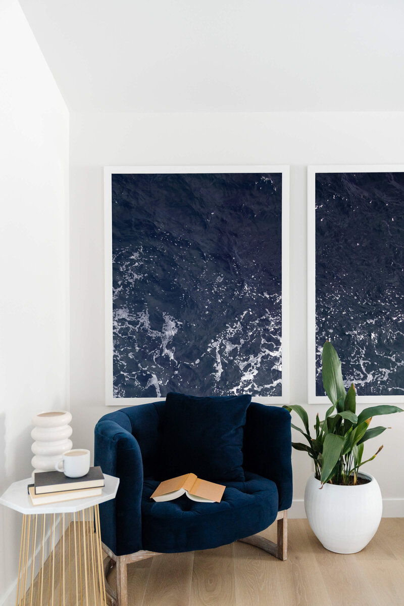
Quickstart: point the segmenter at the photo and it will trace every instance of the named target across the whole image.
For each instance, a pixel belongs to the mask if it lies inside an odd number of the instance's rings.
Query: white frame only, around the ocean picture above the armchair
[[[289,167],[282,165],[237,166],[106,166],[104,167],[105,217],[105,404],[130,406],[164,400],[165,397],[116,398],[113,395],[113,272],[111,180],[113,175],[190,173],[281,173],[282,174],[282,396],[255,397],[262,404],[289,403]]]

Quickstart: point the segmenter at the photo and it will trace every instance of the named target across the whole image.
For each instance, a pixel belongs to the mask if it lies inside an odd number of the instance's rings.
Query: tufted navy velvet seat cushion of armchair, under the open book
[[[158,484],[154,478],[144,479],[142,544],[150,551],[177,553],[226,545],[264,530],[278,513],[276,484],[248,471],[244,482],[221,482],[226,489],[220,503],[191,501],[185,494],[157,503],[150,495]]]

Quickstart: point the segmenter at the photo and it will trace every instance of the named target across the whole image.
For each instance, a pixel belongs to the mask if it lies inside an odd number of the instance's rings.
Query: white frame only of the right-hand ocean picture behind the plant
[[[327,396],[316,395],[316,175],[319,173],[404,173],[404,165],[310,165],[307,168],[307,263],[308,263],[308,403],[329,404]],[[345,379],[345,377],[343,376]],[[360,395],[358,404],[403,404],[403,395]]]

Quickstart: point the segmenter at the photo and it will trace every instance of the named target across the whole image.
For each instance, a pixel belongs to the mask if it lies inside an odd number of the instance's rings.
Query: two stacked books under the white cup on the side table
[[[47,505],[101,496],[104,484],[101,467],[90,467],[81,478],[67,478],[63,471],[41,471],[34,474],[34,483],[28,484],[28,494],[33,505]]]

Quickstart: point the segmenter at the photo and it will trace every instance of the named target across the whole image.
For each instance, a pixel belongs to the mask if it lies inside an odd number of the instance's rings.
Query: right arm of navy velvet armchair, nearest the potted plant
[[[244,428],[243,467],[275,482],[278,511],[292,504],[291,415],[285,408],[251,402]]]

